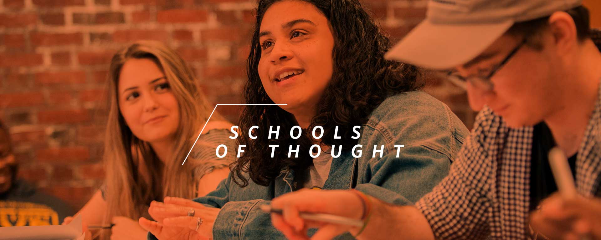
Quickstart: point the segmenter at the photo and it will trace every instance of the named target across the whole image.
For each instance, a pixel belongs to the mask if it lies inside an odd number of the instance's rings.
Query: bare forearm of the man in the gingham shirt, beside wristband
[[[426,217],[414,206],[395,206],[370,197],[371,216],[357,239],[423,239],[433,240]],[[356,236],[359,229],[350,231]]]

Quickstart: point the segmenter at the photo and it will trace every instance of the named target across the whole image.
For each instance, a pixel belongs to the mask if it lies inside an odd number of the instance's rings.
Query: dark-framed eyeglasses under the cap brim
[[[495,85],[490,81],[490,78],[492,76],[495,76],[495,73],[497,71],[499,71],[505,64],[507,64],[507,62],[511,59],[511,57],[513,57],[513,55],[516,55],[517,51],[520,50],[520,48],[525,43],[526,43],[526,38],[524,38],[524,40],[522,40],[522,42],[520,44],[518,44],[516,47],[514,47],[514,49],[511,50],[511,52],[505,57],[505,59],[503,59],[503,61],[501,61],[501,63],[496,65],[490,71],[490,73],[485,77],[484,76],[463,77],[463,76],[459,75],[457,73],[457,71],[449,71],[447,73],[447,79],[463,89],[468,89],[467,83],[469,82],[472,84],[472,86],[475,86],[476,88],[480,88],[484,91],[492,91],[492,89],[495,87]]]

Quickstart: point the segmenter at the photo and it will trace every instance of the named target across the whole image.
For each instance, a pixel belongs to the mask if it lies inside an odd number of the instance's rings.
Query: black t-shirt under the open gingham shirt
[[[530,211],[536,209],[543,199],[557,191],[557,184],[549,164],[549,151],[556,145],[553,134],[545,122],[534,126],[530,168]],[[576,154],[568,158],[568,163],[572,176],[576,176]]]

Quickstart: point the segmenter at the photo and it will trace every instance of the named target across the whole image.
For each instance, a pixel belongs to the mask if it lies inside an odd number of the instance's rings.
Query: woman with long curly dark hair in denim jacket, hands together
[[[259,206],[302,188],[418,200],[447,175],[468,131],[419,90],[418,69],[384,59],[390,45],[359,1],[259,1],[246,103],[287,105],[248,106],[231,177],[195,202],[153,203],[157,222],[140,224],[159,239],[274,239],[283,235]]]

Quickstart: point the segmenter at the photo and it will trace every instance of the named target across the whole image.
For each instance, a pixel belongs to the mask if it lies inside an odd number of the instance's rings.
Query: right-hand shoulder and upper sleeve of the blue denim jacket
[[[404,95],[384,101],[364,125],[359,144],[385,148],[381,158],[379,154],[372,158],[371,151],[358,158],[356,185],[359,191],[397,205],[413,204],[447,176],[468,135],[444,103],[421,91]]]

